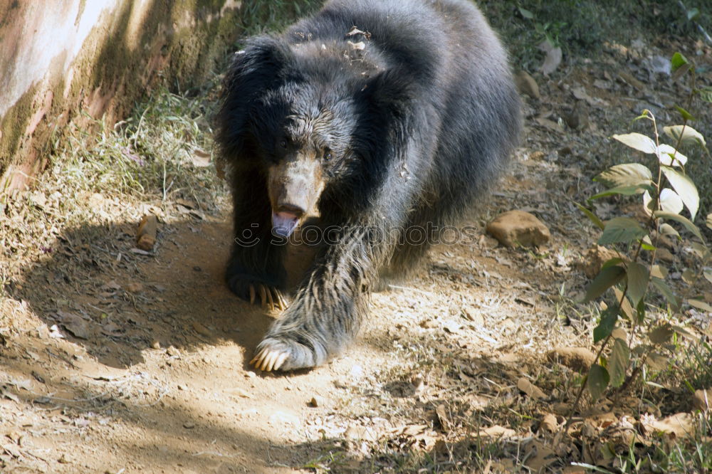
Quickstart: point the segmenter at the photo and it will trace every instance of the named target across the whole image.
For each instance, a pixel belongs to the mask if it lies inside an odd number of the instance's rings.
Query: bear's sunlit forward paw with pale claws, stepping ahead
[[[326,362],[327,355],[320,344],[290,334],[264,339],[255,352],[250,364],[265,372],[316,367]]]

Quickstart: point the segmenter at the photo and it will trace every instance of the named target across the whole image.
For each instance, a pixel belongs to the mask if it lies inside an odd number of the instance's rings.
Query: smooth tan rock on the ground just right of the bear
[[[503,246],[541,246],[551,238],[547,226],[525,211],[508,211],[488,224],[487,232]]]

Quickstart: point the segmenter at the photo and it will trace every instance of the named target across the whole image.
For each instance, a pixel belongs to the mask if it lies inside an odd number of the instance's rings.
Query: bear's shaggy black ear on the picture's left
[[[235,53],[216,115],[216,141],[227,159],[244,154],[255,100],[276,87],[292,58],[289,46],[270,36],[254,38],[244,50]]]

